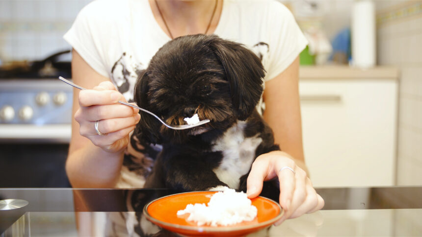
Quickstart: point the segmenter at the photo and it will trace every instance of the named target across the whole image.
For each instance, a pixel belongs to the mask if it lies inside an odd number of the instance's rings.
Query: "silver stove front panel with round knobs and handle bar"
[[[59,79],[0,80],[0,142],[69,142],[72,95]]]

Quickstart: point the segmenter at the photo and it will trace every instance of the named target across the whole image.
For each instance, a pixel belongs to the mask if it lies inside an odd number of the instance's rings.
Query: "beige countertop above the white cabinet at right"
[[[399,70],[392,66],[360,69],[340,65],[300,66],[300,79],[393,79],[398,80]]]

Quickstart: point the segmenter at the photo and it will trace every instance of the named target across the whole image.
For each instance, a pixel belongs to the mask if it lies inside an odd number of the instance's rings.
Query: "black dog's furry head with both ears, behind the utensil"
[[[167,124],[198,114],[204,125],[172,130],[141,112],[135,135],[148,142],[183,142],[247,119],[263,93],[264,68],[246,47],[215,35],[189,35],[162,46],[135,85],[135,102]]]

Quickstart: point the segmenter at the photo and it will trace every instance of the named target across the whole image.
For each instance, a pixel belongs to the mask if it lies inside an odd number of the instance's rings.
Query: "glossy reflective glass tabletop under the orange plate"
[[[320,188],[317,192],[325,200],[323,210],[250,236],[422,233],[422,187]],[[141,216],[144,205],[172,193],[165,189],[0,189],[0,199],[24,199],[29,203],[22,209],[0,211],[0,237],[103,236],[109,231],[128,235],[126,227],[132,225],[132,230],[139,233],[149,226]],[[139,225],[138,220],[143,224]],[[160,234],[176,236],[166,231]]]

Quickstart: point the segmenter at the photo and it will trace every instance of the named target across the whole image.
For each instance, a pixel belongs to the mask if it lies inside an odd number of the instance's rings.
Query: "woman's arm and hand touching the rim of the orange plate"
[[[305,166],[298,82],[298,58],[285,71],[266,82],[264,119],[274,131],[275,142],[280,144],[281,151],[259,156],[252,164],[247,180],[248,197],[252,198],[261,193],[263,181],[278,177],[279,202],[284,214],[277,224],[324,206]],[[284,168],[286,166],[292,170]]]

